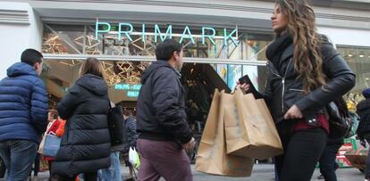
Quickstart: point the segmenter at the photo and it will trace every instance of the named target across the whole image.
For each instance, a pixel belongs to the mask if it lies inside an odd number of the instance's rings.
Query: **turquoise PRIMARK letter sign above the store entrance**
[[[132,42],[133,35],[135,36],[141,36],[141,41],[145,43],[147,36],[154,36],[155,41],[164,41],[167,38],[172,37],[180,37],[180,43],[182,43],[185,39],[189,39],[191,43],[195,44],[195,39],[198,38],[198,40],[201,40],[202,44],[206,44],[206,39],[209,39],[209,41],[216,45],[214,40],[215,39],[221,39],[223,40],[223,45],[229,45],[229,42],[231,41],[234,45],[239,45],[238,41],[238,28],[236,29],[217,29],[218,32],[223,32],[222,36],[216,36],[216,29],[212,27],[202,27],[201,29],[197,29],[198,32],[200,30],[201,35],[193,35],[191,33],[192,29],[190,29],[189,26],[185,26],[182,30],[182,34],[172,34],[172,25],[167,25],[166,27],[155,24],[154,32],[147,32],[146,31],[146,24],[141,25],[142,32],[133,32],[134,27],[132,24],[127,22],[120,22],[117,24],[111,24],[109,22],[104,21],[98,21],[96,22],[95,26],[95,38],[96,40],[99,39],[99,34],[110,34],[110,35],[116,35],[118,37],[119,41],[122,41],[122,37],[126,37]]]

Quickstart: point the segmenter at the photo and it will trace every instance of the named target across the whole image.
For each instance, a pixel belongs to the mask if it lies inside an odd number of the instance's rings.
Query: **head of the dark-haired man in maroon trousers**
[[[183,65],[182,45],[173,39],[164,40],[156,45],[156,60],[167,61],[174,69],[181,71]]]

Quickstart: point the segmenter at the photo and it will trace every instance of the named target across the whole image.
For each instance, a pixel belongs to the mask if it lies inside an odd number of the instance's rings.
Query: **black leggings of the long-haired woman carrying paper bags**
[[[310,181],[324,151],[327,133],[322,128],[281,134],[284,153],[275,157],[279,181]]]

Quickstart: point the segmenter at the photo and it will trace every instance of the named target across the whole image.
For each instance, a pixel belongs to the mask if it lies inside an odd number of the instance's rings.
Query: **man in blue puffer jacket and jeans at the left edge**
[[[7,181],[27,179],[46,129],[46,88],[38,78],[42,62],[41,53],[27,49],[0,81],[0,156],[8,169]]]

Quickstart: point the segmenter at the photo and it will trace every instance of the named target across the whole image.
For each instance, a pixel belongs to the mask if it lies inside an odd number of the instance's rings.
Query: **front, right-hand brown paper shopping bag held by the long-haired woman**
[[[239,88],[225,96],[227,153],[256,159],[282,154],[282,142],[265,101],[244,95]]]

